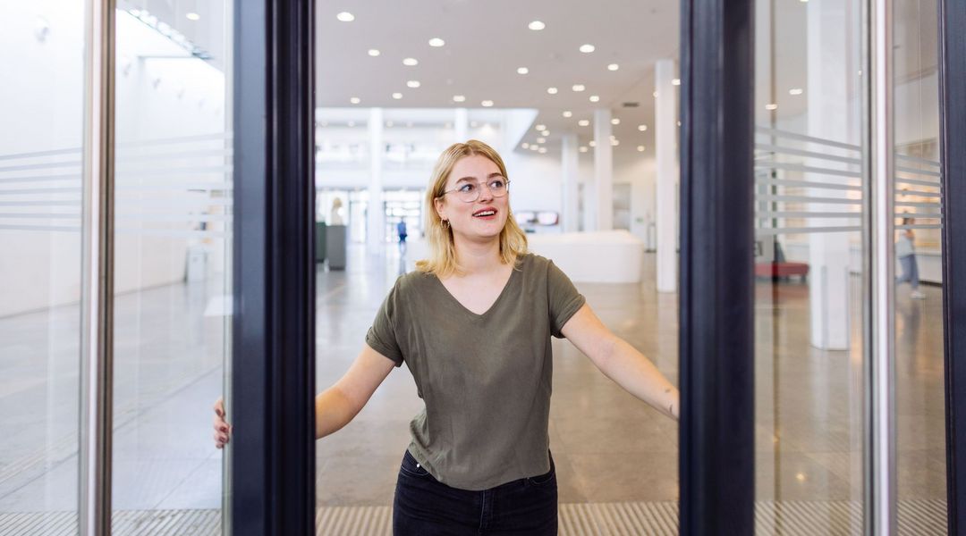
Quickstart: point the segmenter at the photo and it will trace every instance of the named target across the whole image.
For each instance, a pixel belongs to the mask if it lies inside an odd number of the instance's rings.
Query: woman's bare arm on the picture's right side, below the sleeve
[[[680,394],[654,363],[613,335],[584,304],[560,330],[605,376],[661,413],[677,419]]]

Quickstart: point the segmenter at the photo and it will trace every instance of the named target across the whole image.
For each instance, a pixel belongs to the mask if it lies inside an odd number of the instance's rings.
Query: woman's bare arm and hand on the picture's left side
[[[364,345],[342,378],[316,395],[315,438],[325,438],[349,424],[394,366],[384,355]],[[214,403],[214,446],[221,448],[229,442],[233,428],[225,421],[224,402],[219,397]]]

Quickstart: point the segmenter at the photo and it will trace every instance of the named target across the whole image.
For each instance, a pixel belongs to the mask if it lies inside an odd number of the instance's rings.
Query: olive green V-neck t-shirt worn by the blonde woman
[[[463,307],[435,275],[399,278],[366,343],[406,362],[426,408],[412,419],[410,453],[437,480],[485,490],[550,470],[551,335],[583,306],[574,284],[524,255],[493,306]]]

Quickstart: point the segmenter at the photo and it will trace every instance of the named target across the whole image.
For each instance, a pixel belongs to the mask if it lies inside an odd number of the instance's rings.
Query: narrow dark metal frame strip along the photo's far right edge
[[[949,533],[966,529],[966,3],[939,0],[943,323]]]

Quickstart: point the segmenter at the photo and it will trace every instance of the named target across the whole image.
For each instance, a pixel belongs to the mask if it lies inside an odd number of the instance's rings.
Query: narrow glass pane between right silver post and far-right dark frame
[[[896,474],[923,534],[947,532],[936,10],[895,1]]]

